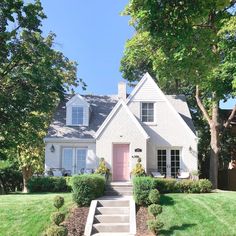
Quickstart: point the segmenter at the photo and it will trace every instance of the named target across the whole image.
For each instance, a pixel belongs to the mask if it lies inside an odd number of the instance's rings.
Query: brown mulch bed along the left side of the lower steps
[[[63,223],[68,229],[68,236],[84,235],[84,228],[89,212],[89,207],[75,207],[69,213],[69,217]]]

